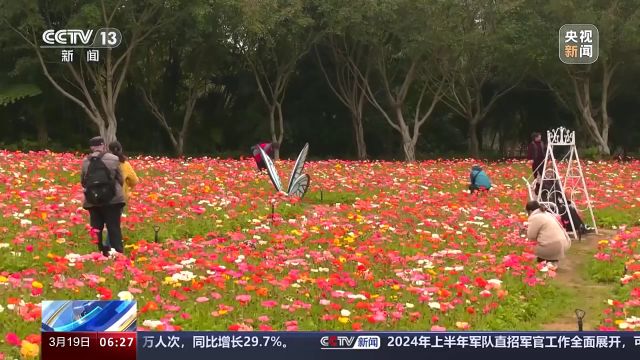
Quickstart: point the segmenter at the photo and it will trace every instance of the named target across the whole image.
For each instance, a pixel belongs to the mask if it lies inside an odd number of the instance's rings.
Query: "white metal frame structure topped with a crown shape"
[[[557,146],[569,147],[567,155],[560,159],[560,162],[564,162],[568,157],[564,179],[560,176],[558,161],[554,155],[554,148]],[[551,165],[551,167],[548,167],[547,165]],[[536,199],[540,204],[545,205],[548,209],[560,216],[569,212],[569,206],[573,205],[577,207],[576,199],[579,198],[580,195],[583,195],[584,205],[586,205],[586,209],[589,210],[589,215],[591,215],[591,225],[596,231],[596,234],[598,233],[595,217],[593,215],[591,199],[589,198],[587,184],[584,180],[584,173],[582,172],[582,165],[580,164],[580,157],[578,156],[578,150],[576,148],[575,131],[570,131],[564,127],[547,131],[547,149],[544,162],[542,163],[542,176],[535,179],[533,184],[530,184],[527,179],[525,179],[525,181],[528,185],[529,199]],[[542,184],[548,183],[553,185],[550,188],[544,189]],[[537,195],[534,190],[536,184],[540,184]],[[569,200],[571,200],[571,205],[569,201],[567,201],[567,194],[569,195]],[[564,204],[564,209],[562,209],[562,211],[557,206],[558,200]],[[570,214],[568,215],[571,223],[571,229],[573,230],[573,236],[577,239],[578,232],[576,231],[575,224],[573,223],[573,218]]]

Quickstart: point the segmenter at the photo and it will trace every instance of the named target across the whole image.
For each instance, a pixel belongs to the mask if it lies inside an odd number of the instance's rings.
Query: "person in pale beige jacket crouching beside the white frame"
[[[527,238],[536,241],[535,254],[538,262],[550,262],[556,265],[571,247],[571,239],[555,214],[547,211],[537,201],[527,203],[529,227]]]

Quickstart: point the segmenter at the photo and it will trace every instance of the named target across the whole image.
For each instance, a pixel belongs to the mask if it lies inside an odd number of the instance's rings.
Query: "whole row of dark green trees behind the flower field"
[[[595,63],[560,62],[568,23],[598,28]],[[0,146],[413,161],[559,125],[604,155],[640,145],[635,0],[0,0],[0,26]],[[108,27],[97,62],[40,46]]]

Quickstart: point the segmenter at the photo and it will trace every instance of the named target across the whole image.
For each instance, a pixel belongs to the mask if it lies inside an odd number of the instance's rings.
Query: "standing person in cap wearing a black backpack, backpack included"
[[[111,249],[124,253],[120,219],[125,198],[120,160],[106,151],[104,140],[99,136],[89,140],[89,146],[91,154],[82,162],[82,207],[89,211],[89,223],[92,232],[97,235],[98,249],[102,254],[109,256]],[[105,226],[109,239],[103,242],[102,232]]]

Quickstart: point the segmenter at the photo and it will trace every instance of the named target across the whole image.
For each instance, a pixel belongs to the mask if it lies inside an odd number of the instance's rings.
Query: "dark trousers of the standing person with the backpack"
[[[119,253],[124,253],[122,244],[122,230],[120,229],[120,218],[122,217],[122,209],[124,204],[106,205],[89,208],[89,224],[98,235],[98,250],[104,256],[109,255],[109,250],[113,248]],[[102,232],[107,227],[109,232],[108,242],[102,243]]]

